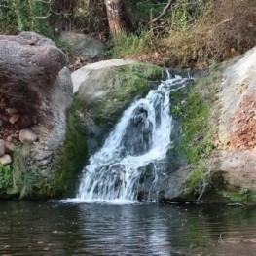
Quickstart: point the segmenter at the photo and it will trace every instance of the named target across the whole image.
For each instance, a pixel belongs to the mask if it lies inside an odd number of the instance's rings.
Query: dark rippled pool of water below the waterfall
[[[0,255],[256,255],[256,208],[0,201]]]

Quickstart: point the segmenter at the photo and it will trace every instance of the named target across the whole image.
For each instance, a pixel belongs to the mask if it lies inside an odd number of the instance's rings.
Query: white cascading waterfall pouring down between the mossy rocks
[[[84,168],[75,201],[136,201],[141,175],[148,166],[153,168],[152,186],[157,184],[158,163],[165,160],[171,145],[169,94],[188,80],[168,74],[158,89],[128,107]]]

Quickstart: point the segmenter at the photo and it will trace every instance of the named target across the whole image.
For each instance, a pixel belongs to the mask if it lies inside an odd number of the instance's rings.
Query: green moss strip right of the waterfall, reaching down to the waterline
[[[216,181],[211,176],[209,157],[214,153],[217,139],[219,109],[215,97],[225,66],[225,63],[212,66],[209,75],[171,94],[171,112],[179,123],[179,136],[174,139],[168,158],[176,168],[192,166],[184,191],[184,197],[192,200],[201,200]]]

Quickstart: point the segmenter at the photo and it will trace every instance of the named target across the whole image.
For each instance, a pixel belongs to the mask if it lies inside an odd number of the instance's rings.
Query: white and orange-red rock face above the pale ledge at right
[[[222,113],[219,139],[231,150],[256,146],[256,48],[227,68],[218,94]]]

